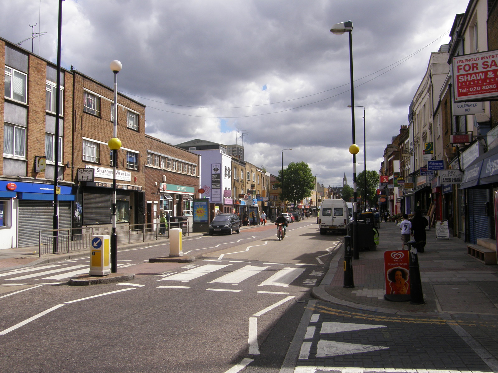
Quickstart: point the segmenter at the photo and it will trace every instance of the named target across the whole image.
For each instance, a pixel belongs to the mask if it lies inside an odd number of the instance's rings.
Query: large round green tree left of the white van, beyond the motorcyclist
[[[286,169],[278,171],[279,187],[282,188],[280,199],[282,201],[300,201],[311,195],[311,190],[315,190],[315,177],[306,162],[291,162]],[[283,181],[283,182],[282,182]]]

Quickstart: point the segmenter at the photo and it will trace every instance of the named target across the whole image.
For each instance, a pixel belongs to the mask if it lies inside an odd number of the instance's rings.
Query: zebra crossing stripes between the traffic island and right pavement
[[[302,266],[290,267],[284,264],[274,264],[274,263],[263,263],[263,265],[252,265],[250,263],[242,267],[237,268],[236,263],[240,262],[227,262],[228,264],[203,264],[203,265],[187,265],[182,267],[185,271],[180,273],[168,272],[164,274],[165,276],[157,281],[167,282],[168,285],[160,285],[160,288],[190,288],[190,286],[185,286],[186,282],[193,280],[205,278],[207,284],[220,284],[220,285],[239,285],[245,280],[249,280],[253,277],[258,277],[258,286],[279,286],[288,287],[290,284],[299,278],[305,271],[306,268]],[[283,267],[280,269],[275,269],[275,266]],[[229,273],[226,272],[227,269],[234,267]],[[221,275],[221,270],[223,275]],[[276,271],[276,272],[275,272]],[[317,271],[313,271],[317,273]],[[323,274],[323,273],[320,273]],[[221,276],[220,276],[221,275]],[[315,275],[316,276],[316,275]],[[308,284],[308,282],[303,282],[301,284]],[[240,291],[233,288],[230,289],[213,289],[209,288],[211,291]],[[258,292],[268,292],[268,291],[258,291]],[[283,293],[283,292],[277,292]]]

